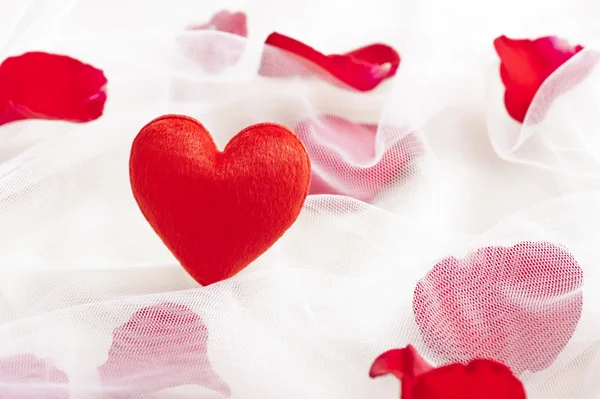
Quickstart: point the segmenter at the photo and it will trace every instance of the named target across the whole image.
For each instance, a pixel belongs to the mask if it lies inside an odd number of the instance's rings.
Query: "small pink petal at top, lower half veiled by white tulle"
[[[188,30],[215,30],[240,37],[248,36],[246,14],[243,12],[219,11],[211,20],[201,25],[190,26]],[[184,37],[181,40],[184,51],[209,73],[219,73],[236,64],[246,48],[245,42],[233,38],[214,36]]]

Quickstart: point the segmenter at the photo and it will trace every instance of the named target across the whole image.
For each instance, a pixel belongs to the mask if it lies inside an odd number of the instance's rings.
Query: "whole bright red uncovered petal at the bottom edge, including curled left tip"
[[[392,374],[401,381],[400,399],[525,399],[523,384],[501,363],[475,359],[467,365],[429,365],[411,346],[379,356],[371,378]]]

